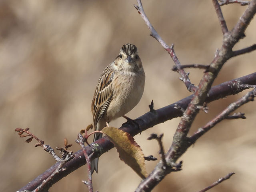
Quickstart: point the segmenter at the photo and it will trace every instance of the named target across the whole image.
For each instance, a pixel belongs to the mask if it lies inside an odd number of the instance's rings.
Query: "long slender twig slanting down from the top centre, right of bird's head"
[[[188,89],[188,91],[195,92],[196,86],[194,86],[194,84],[192,84],[190,82],[190,79],[188,78],[188,74],[184,71],[184,69],[180,68],[181,64],[180,64],[180,61],[178,60],[178,58],[177,58],[177,56],[174,52],[174,44],[172,44],[171,46],[168,46],[166,44],[166,42],[164,42],[164,40],[158,35],[158,33],[156,32],[156,30],[154,29],[154,27],[152,26],[152,24],[148,20],[148,17],[146,16],[146,14],[144,12],[141,1],[137,0],[137,2],[138,2],[138,5],[134,5],[134,7],[138,10],[138,13],[140,14],[140,16],[143,18],[146,25],[148,26],[148,28],[151,32],[150,36],[154,37],[160,43],[160,45],[162,45],[164,47],[164,49],[170,54],[172,60],[174,61],[174,64],[178,68],[177,71],[181,76],[181,80],[186,85],[186,88]]]

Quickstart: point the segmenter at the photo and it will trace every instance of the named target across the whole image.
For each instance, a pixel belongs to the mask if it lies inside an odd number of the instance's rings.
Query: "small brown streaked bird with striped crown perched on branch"
[[[144,84],[145,73],[136,46],[123,45],[96,86],[91,109],[94,129],[102,130],[108,122],[132,110],[142,97]],[[94,134],[93,142],[100,138],[102,133]],[[92,161],[92,173],[94,170],[98,172],[98,158]]]

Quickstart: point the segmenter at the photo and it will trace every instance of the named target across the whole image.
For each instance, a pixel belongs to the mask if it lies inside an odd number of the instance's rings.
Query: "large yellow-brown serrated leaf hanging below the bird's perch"
[[[114,143],[120,159],[128,164],[142,179],[146,178],[144,154],[134,138],[129,133],[114,127],[105,127],[102,132]]]

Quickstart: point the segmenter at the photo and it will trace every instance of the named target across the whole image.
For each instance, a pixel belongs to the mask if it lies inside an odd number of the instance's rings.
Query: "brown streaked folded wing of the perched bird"
[[[109,65],[101,74],[99,82],[96,86],[96,90],[92,99],[92,116],[94,128],[96,128],[98,121],[105,114],[108,106],[112,100],[112,80],[114,77],[114,71],[111,70]]]

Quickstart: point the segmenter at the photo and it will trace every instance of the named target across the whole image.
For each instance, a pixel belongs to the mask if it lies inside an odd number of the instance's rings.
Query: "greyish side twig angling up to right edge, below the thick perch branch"
[[[199,128],[197,132],[195,132],[192,136],[190,136],[191,143],[196,142],[198,138],[200,138],[205,132],[210,130],[212,127],[214,127],[217,123],[221,122],[225,118],[229,118],[228,115],[242,106],[243,104],[248,103],[249,101],[253,101],[254,97],[256,96],[256,89],[253,89],[252,91],[248,92],[246,95],[244,95],[242,98],[237,100],[236,102],[233,102],[230,104],[226,109],[224,109],[220,114],[218,114],[214,119],[209,121],[207,124],[205,124],[202,128]],[[236,114],[233,117],[238,118],[245,118],[244,114]],[[234,119],[234,118],[233,118]]]

